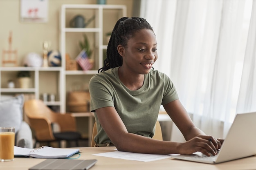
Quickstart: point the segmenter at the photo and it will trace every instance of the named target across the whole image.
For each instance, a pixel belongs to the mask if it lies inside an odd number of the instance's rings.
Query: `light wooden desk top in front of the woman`
[[[92,154],[115,151],[115,147],[88,147],[80,148],[81,157],[79,159],[97,159],[98,162],[90,170],[255,170],[256,156],[210,165],[205,163],[195,163],[181,161],[172,158],[158,161],[140,162],[124,159],[115,159]],[[0,170],[28,170],[30,167],[44,161],[37,158],[15,158],[11,162],[0,162]]]

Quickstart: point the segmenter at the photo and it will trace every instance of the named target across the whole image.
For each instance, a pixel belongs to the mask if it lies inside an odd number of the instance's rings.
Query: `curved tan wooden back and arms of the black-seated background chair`
[[[61,131],[76,131],[74,117],[55,113],[42,100],[31,99],[24,102],[25,120],[34,129],[38,141],[54,141],[52,123],[59,125]]]

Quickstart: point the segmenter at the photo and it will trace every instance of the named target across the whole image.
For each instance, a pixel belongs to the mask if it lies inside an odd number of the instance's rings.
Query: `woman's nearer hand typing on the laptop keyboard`
[[[189,141],[181,143],[178,147],[179,154],[191,155],[194,152],[202,152],[204,155],[217,155],[219,149],[217,139],[211,136],[198,135]]]

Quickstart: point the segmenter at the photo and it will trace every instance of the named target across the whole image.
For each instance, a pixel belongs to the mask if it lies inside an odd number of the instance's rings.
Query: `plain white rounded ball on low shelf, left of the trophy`
[[[29,67],[40,67],[43,64],[43,58],[38,53],[28,53],[24,60],[23,65]]]

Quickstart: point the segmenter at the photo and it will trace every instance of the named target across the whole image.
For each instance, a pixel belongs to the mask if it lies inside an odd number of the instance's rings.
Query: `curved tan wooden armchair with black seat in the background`
[[[36,144],[39,142],[58,141],[59,146],[61,140],[68,143],[75,141],[78,146],[78,140],[81,134],[76,131],[76,121],[72,115],[61,114],[52,111],[42,100],[31,99],[24,103],[25,120],[29,126],[34,129]],[[53,124],[58,124],[60,132],[54,132]]]

